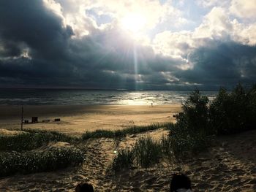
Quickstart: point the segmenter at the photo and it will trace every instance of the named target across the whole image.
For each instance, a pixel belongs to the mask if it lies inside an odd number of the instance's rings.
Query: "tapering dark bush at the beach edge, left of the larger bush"
[[[164,141],[165,153],[171,150],[177,158],[188,153],[205,150],[208,145],[208,135],[213,133],[209,123],[208,98],[201,96],[198,90],[190,93],[182,104],[183,113],[177,116],[177,122],[170,127],[169,137]]]

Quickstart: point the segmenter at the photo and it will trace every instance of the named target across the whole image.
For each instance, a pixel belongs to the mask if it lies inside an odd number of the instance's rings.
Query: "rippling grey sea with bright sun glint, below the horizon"
[[[181,104],[192,91],[105,91],[85,89],[0,88],[0,105]],[[217,91],[200,91],[214,99]]]

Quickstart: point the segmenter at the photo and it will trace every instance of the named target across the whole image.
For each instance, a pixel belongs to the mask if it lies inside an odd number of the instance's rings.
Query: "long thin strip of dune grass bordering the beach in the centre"
[[[146,131],[155,130],[157,128],[170,128],[173,126],[173,123],[154,123],[149,126],[131,126],[129,128],[124,128],[120,130],[103,130],[98,129],[96,131],[86,131],[83,134],[82,139],[90,139],[90,138],[116,138],[116,137],[126,137],[127,134],[139,134]]]

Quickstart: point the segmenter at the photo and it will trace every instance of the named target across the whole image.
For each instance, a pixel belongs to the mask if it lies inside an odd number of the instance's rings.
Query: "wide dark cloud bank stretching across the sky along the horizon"
[[[161,89],[255,80],[256,48],[235,42],[206,39],[211,46],[189,54],[194,68],[181,70],[180,58],[156,55],[114,26],[73,35],[42,1],[0,1],[0,85]]]

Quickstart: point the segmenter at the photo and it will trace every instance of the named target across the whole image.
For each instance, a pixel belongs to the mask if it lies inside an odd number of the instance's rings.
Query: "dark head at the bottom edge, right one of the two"
[[[173,174],[170,192],[192,192],[191,181],[185,174]]]

